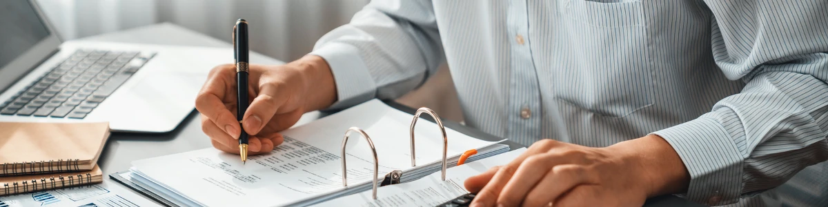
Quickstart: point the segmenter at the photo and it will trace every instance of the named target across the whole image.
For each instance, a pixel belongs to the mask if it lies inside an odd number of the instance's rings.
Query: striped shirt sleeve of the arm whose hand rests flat
[[[690,172],[686,197],[725,205],[828,159],[828,1],[705,1],[712,50],[747,83],[710,113],[653,132]]]

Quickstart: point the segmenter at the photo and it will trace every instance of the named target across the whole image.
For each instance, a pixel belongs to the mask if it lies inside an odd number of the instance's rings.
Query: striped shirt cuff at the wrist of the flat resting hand
[[[682,196],[704,205],[735,203],[742,191],[744,159],[729,133],[709,115],[652,134],[669,142],[690,172],[690,186]]]

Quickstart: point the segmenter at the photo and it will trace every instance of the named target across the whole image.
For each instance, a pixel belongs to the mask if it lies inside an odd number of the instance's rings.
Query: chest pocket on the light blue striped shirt
[[[606,1],[606,0],[604,0]],[[561,55],[556,99],[619,118],[652,105],[653,69],[642,2],[558,2]]]

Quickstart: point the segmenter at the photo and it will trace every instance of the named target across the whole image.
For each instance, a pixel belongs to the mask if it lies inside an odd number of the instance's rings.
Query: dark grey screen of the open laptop
[[[50,35],[30,3],[20,0],[0,1],[0,69]],[[0,91],[13,81],[6,78],[8,77],[0,77]]]

